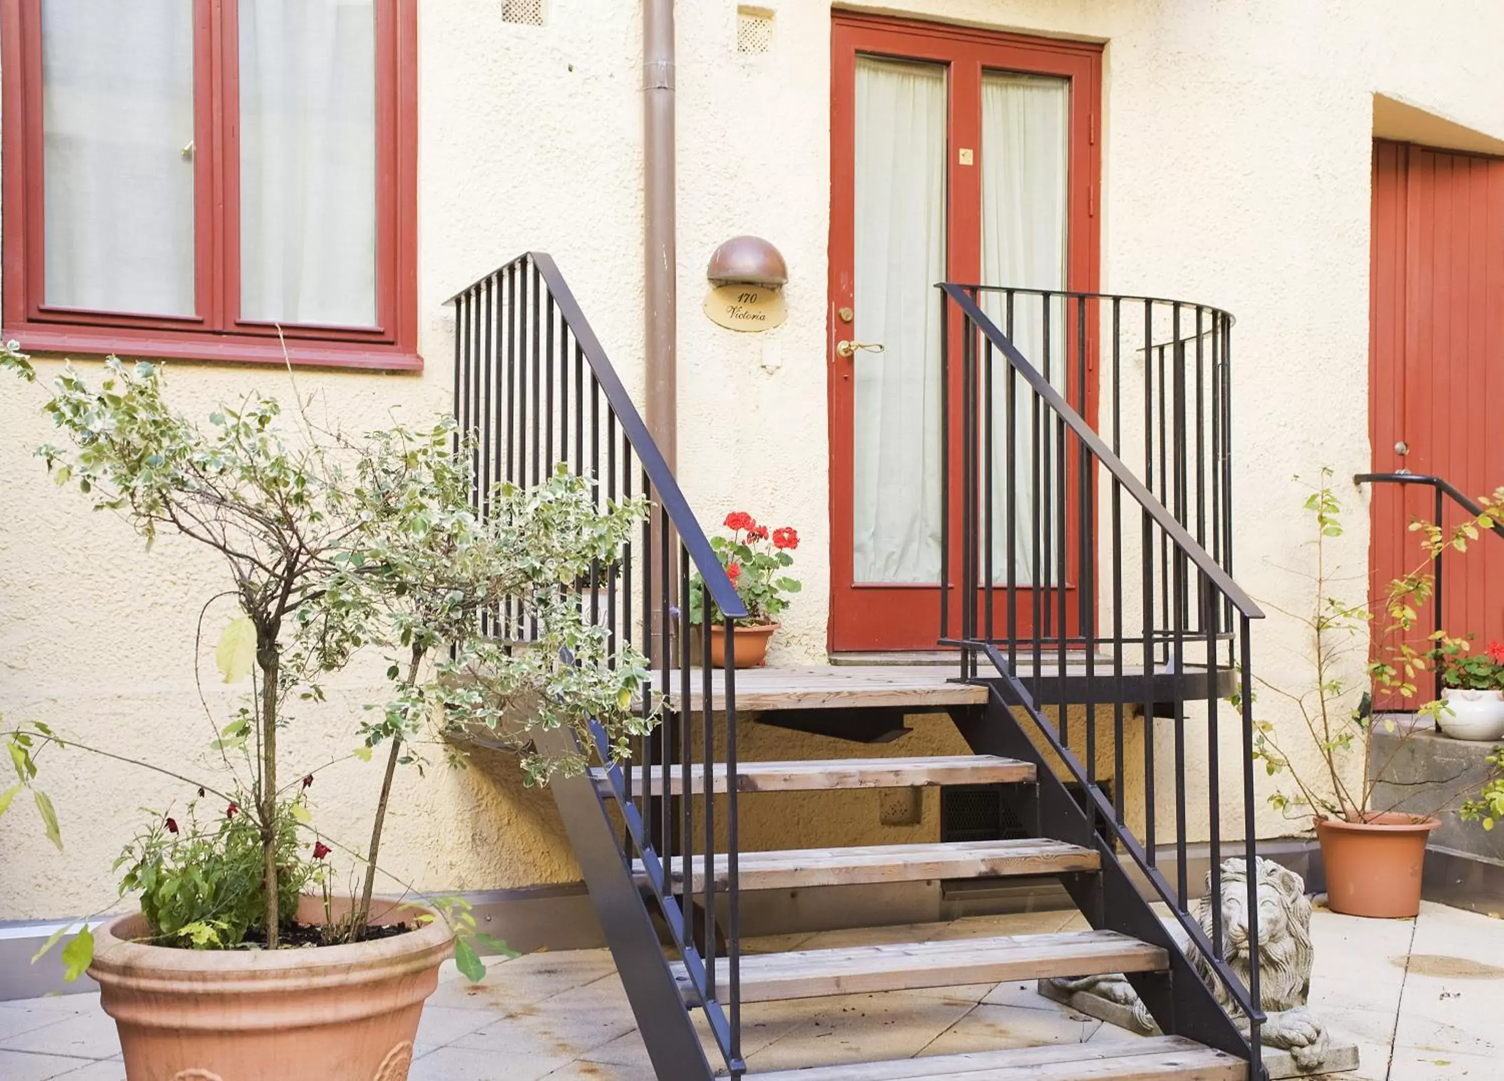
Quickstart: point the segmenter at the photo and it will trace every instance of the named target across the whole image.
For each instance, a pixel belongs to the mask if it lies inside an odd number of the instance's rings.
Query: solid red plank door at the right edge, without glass
[[[1504,159],[1375,141],[1370,287],[1375,472],[1441,477],[1472,498],[1493,492],[1504,484],[1490,410],[1504,400]],[[1433,522],[1433,499],[1421,486],[1375,486],[1375,603],[1424,561],[1408,523]],[[1444,525],[1462,517],[1448,502]],[[1447,556],[1442,612],[1448,633],[1475,634],[1478,646],[1504,639],[1504,540]],[[1420,625],[1432,619],[1423,612]]]

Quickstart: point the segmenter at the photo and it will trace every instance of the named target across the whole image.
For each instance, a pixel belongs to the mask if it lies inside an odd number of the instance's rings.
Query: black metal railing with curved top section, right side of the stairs
[[[1175,920],[1185,931],[1191,949],[1206,959],[1217,980],[1226,988],[1230,1001],[1250,1018],[1248,1057],[1250,1076],[1263,1076],[1259,1027],[1263,1022],[1259,992],[1259,926],[1257,926],[1257,860],[1256,842],[1256,789],[1253,756],[1253,674],[1250,668],[1251,624],[1263,618],[1262,609],[1239,586],[1230,573],[1230,454],[1227,435],[1230,410],[1227,406],[1229,377],[1229,328],[1230,316],[1205,305],[1167,302],[1169,310],[1157,310],[1157,301],[1145,301],[1143,308],[1143,355],[1145,355],[1145,468],[1154,478],[1158,468],[1161,492],[1169,495],[1173,510],[1152,484],[1142,481],[1119,454],[1120,422],[1119,382],[1116,365],[1119,349],[1119,316],[1123,298],[1075,293],[1074,304],[1062,304],[1062,316],[1074,314],[1074,325],[1063,332],[1074,335],[1065,343],[1051,341],[1051,298],[1063,296],[1047,290],[984,290],[976,286],[955,283],[940,284],[949,307],[943,313],[942,328],[946,343],[942,346],[942,364],[952,362],[951,347],[957,350],[961,364],[961,415],[952,416],[949,406],[942,412],[942,439],[949,447],[952,427],[960,422],[961,459],[961,570],[960,570],[960,634],[949,634],[949,610],[942,589],[943,639],[961,650],[963,678],[982,680],[1003,695],[1011,707],[1024,710],[1033,720],[1042,738],[1066,764],[1086,794],[1089,807],[1101,822],[1096,827],[1099,842],[1107,851],[1125,852],[1154,892],[1169,905]],[[1030,293],[1039,298],[1042,320],[1038,325],[1042,370],[1030,362],[982,307],[981,295],[1000,293],[1005,308],[1003,319],[1014,329],[1014,293]],[[988,298],[990,301],[994,298]],[[1113,335],[1113,430],[1111,445],[1092,427],[1069,400],[1090,401],[1090,364],[1087,340],[1089,310],[1095,308],[1098,319],[1107,319]],[[1208,316],[1206,313],[1214,313]],[[960,316],[952,323],[952,317]],[[1066,320],[1069,322],[1069,320]],[[1194,326],[1196,335],[1182,334],[1185,325]],[[952,343],[954,326],[961,328],[960,343]],[[1167,343],[1157,341],[1157,331],[1167,332]],[[1059,334],[1057,328],[1054,334]],[[1214,335],[1211,349],[1211,376],[1199,364],[1202,359],[1202,337]],[[1187,341],[1191,341],[1187,347]],[[1051,365],[1053,356],[1053,365]],[[1151,365],[1151,361],[1154,364]],[[1051,371],[1066,383],[1068,394],[1051,380]],[[1154,374],[1160,374],[1158,397]],[[1170,389],[1166,391],[1166,380]],[[1074,386],[1072,386],[1074,383]],[[1203,383],[1209,383],[1208,397],[1214,407],[1205,409]],[[949,395],[946,397],[946,401]],[[1002,419],[997,407],[1003,407]],[[1202,428],[1199,421],[1209,415],[1214,462],[1206,472],[1191,472],[1191,465],[1202,469]],[[994,433],[994,427],[1002,427]],[[1155,441],[1154,428],[1158,428]],[[1005,448],[1002,472],[994,477],[993,459],[997,441]],[[1209,480],[1206,480],[1209,478]],[[1005,520],[1006,574],[1002,585],[993,571],[993,501],[1005,484],[1002,517]],[[1220,552],[1214,555],[1187,528],[1194,522],[1203,528],[1199,502],[1211,490],[1214,507],[1220,517],[1214,520],[1211,535]],[[949,480],[942,483],[942,522],[949,522]],[[1125,495],[1126,493],[1126,495]],[[1108,496],[1105,507],[1102,496]],[[1128,510],[1123,504],[1126,502]],[[1139,523],[1125,531],[1125,520],[1137,504]],[[1018,513],[1018,508],[1026,508]],[[1110,511],[1108,511],[1110,507]],[[1110,517],[1108,517],[1110,516]],[[1108,517],[1105,526],[1107,544],[1098,549],[1098,519]],[[1017,544],[1023,532],[1023,544]],[[1137,534],[1137,550],[1131,540]],[[948,559],[948,540],[942,541],[942,564]],[[1110,546],[1110,547],[1108,547]],[[985,552],[984,552],[985,549]],[[1020,549],[1024,552],[1020,564]],[[1220,556],[1220,558],[1218,558]],[[1142,595],[1126,597],[1125,562],[1142,577]],[[1137,562],[1137,567],[1131,564]],[[1020,574],[1023,567],[1023,574]],[[1163,570],[1161,570],[1163,568]],[[1158,574],[1157,574],[1158,571]],[[949,580],[942,571],[943,580]],[[1098,579],[1101,577],[1101,589]],[[1158,585],[1157,585],[1158,577]],[[1005,633],[994,633],[994,592],[1005,591],[1006,612],[1000,616]],[[1068,606],[1068,592],[1075,594],[1074,610]],[[1101,592],[1101,597],[1098,595]],[[1017,612],[1017,595],[1030,595],[1032,622]],[[1098,634],[1098,601],[1110,607],[1110,633]],[[1126,603],[1125,603],[1126,601]],[[1137,633],[1130,621],[1137,619]],[[1074,621],[1074,625],[1072,625]],[[1113,656],[1099,659],[1096,648],[1110,645]],[[1221,646],[1226,645],[1226,656]],[[1069,653],[1084,648],[1072,660]],[[1152,728],[1145,734],[1143,758],[1143,834],[1128,825],[1125,806],[1126,771],[1123,762],[1125,707],[1128,704],[1128,674],[1125,653],[1142,654],[1143,714],[1154,717],[1161,708],[1173,710],[1175,761],[1169,782],[1173,789],[1176,881],[1170,883],[1157,863],[1157,804],[1158,788],[1164,777],[1155,777],[1155,737]],[[982,657],[996,669],[997,677],[978,672],[976,660]],[[1221,920],[1212,923],[1206,935],[1194,914],[1194,898],[1188,875],[1188,731],[1187,702],[1184,695],[1166,695],[1169,702],[1155,701],[1155,680],[1164,674],[1184,677],[1188,666],[1199,665],[1205,675],[1205,768],[1206,809],[1211,848],[1211,893],[1221,896],[1221,749],[1218,717],[1223,698],[1236,695],[1241,722],[1241,788],[1242,788],[1242,840],[1238,845],[1250,868],[1247,911],[1250,982],[1247,986],[1226,962]],[[1068,720],[1062,705],[1048,717],[1042,710],[1044,690],[1048,680],[1059,678],[1060,692],[1051,699],[1069,702],[1066,683],[1072,666],[1084,669],[1087,684],[1096,680],[1116,686],[1110,696],[1113,710],[1114,762],[1113,792],[1108,795],[1098,780],[1098,717],[1092,701],[1084,705],[1080,722]],[[1024,675],[1024,669],[1029,674]],[[1048,671],[1048,675],[1047,675]],[[1134,699],[1136,702],[1140,699]],[[1084,722],[1084,723],[1081,723]],[[1078,738],[1071,738],[1071,725],[1080,725]],[[1084,729],[1084,731],[1081,731]],[[1084,755],[1080,753],[1084,749]],[[1169,1028],[1167,1028],[1169,1031]]]

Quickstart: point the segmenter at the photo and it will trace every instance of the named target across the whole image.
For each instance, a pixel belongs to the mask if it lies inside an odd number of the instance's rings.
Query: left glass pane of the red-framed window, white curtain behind
[[[45,301],[194,314],[193,5],[42,0]]]

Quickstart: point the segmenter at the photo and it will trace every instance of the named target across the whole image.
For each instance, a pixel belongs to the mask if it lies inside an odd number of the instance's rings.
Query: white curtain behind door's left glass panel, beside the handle
[[[853,576],[940,579],[940,290],[946,83],[857,57]]]

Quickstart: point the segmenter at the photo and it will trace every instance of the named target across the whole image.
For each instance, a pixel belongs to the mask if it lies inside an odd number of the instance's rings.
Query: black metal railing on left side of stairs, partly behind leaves
[[[726,1067],[737,1076],[746,1069],[740,1046],[737,786],[726,783],[719,797],[725,813],[720,822],[711,797],[717,752],[726,777],[737,770],[731,625],[746,609],[553,259],[543,253],[520,256],[454,296],[453,304],[454,410],[459,430],[471,436],[474,448],[477,508],[486,513],[496,481],[534,486],[559,463],[594,481],[602,505],[633,498],[648,502],[641,538],[624,546],[615,562],[593,567],[588,580],[576,586],[578,603],[596,624],[609,628],[611,663],[617,643],[641,642],[653,665],[653,686],[638,708],[644,716],[662,711],[657,729],[632,741],[627,762],[612,761],[605,729],[591,725],[596,747],[582,750],[594,753],[597,777],[603,777],[620,807],[623,836],[615,854],[629,874],[602,875],[599,889],[591,883],[593,869],[587,866],[585,874],[597,910],[608,907],[602,919],[608,938],[612,928],[636,926],[642,898],[651,899]],[[696,571],[704,579],[701,597],[707,609],[698,636],[690,633],[689,610],[690,576]],[[711,603],[726,615],[720,628],[711,628]],[[498,613],[499,637],[525,642],[532,630],[516,613]],[[725,648],[720,666],[711,663],[711,636],[717,631]],[[556,795],[561,791],[556,783]],[[588,786],[570,791],[593,798]],[[593,813],[594,807],[587,810]],[[605,804],[600,810],[600,828],[611,830]],[[594,819],[587,813],[576,821]],[[576,851],[581,848],[576,843]],[[581,861],[587,861],[584,854]],[[615,914],[611,905],[620,907]],[[618,950],[617,941],[612,949]],[[650,961],[656,964],[627,965],[618,953],[623,980],[669,980],[677,1004],[680,988],[672,986],[666,958]],[[650,1051],[656,1049],[650,1027],[671,1022],[647,1019]],[[687,1022],[674,1028],[669,1040],[683,1043],[686,1031],[693,1040]],[[698,1040],[684,1054],[678,1061],[695,1054],[704,1061]]]

